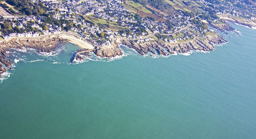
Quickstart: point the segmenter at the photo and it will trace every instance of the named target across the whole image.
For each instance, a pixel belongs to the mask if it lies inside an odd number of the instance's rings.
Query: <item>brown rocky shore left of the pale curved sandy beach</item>
[[[66,40],[58,37],[45,38],[19,38],[0,42],[0,77],[6,71],[6,68],[11,68],[12,62],[7,58],[5,51],[10,48],[34,48],[37,52],[51,52],[55,50],[61,43],[66,43]]]

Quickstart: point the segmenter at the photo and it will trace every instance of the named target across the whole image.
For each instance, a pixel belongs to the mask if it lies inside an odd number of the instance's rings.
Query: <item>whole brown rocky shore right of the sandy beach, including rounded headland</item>
[[[136,43],[132,40],[120,40],[115,41],[114,45],[109,47],[99,47],[92,51],[79,53],[74,59],[76,61],[84,60],[86,57],[91,57],[91,53],[94,53],[97,57],[100,58],[115,58],[123,55],[122,49],[119,47],[120,44],[134,49],[140,55],[145,55],[150,52],[152,54],[168,56],[170,54],[176,53],[187,53],[193,50],[212,51],[215,50],[216,44],[222,44],[225,42],[226,40],[218,34],[215,36],[209,35],[201,39],[195,38],[194,40],[188,42],[179,43],[166,43],[157,40],[145,43]]]

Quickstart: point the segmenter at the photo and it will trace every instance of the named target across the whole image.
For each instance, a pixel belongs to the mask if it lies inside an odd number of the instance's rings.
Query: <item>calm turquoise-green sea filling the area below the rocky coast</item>
[[[256,33],[233,26],[242,35],[190,56],[21,53],[0,84],[0,138],[256,138]]]

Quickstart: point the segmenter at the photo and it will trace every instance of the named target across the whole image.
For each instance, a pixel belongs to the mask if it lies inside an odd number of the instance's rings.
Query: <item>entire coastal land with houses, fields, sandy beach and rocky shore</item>
[[[250,0],[1,0],[0,11],[0,76],[11,68],[11,48],[51,52],[70,42],[81,48],[71,62],[93,53],[115,58],[121,44],[167,56],[226,42],[208,26],[225,33],[234,31],[226,21],[256,27]]]

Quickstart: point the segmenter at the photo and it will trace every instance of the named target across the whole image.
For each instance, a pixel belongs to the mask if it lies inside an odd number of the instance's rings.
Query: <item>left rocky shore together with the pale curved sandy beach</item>
[[[81,49],[94,49],[95,47],[72,33],[61,32],[36,37],[13,37],[0,40],[0,77],[7,69],[12,69],[13,62],[8,59],[6,51],[11,48],[33,48],[38,53],[52,52],[63,44],[70,42]]]

